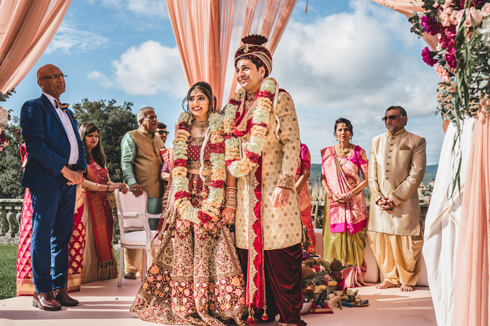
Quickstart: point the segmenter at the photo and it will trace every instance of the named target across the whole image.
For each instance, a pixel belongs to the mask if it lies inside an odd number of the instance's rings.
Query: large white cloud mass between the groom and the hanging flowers
[[[390,105],[407,110],[408,131],[430,138],[428,162],[437,163],[444,136],[433,115],[439,80],[421,60],[423,41],[404,15],[370,1],[349,4],[349,13],[291,20],[274,53],[272,77],[295,101],[314,163],[335,143],[339,117],[351,119],[353,142],[368,151],[370,138],[386,132],[380,118]]]

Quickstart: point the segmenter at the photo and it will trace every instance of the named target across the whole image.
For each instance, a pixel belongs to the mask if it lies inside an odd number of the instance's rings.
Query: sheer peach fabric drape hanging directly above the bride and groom
[[[216,108],[237,87],[233,55],[248,34],[269,38],[274,54],[297,0],[165,0],[189,87],[211,84]],[[228,77],[228,80],[227,80]],[[230,94],[224,98],[225,86]]]

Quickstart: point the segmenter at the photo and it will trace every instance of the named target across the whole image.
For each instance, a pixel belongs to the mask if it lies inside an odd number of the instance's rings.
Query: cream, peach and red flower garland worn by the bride
[[[172,178],[174,198],[177,212],[181,218],[194,223],[216,223],[219,220],[221,203],[223,202],[223,185],[225,184],[225,144],[223,138],[223,122],[219,114],[209,116],[211,130],[211,183],[209,196],[202,209],[193,207],[190,202],[189,179],[187,178],[187,140],[190,136],[188,124],[189,114],[181,113],[179,128],[174,140],[174,169]]]

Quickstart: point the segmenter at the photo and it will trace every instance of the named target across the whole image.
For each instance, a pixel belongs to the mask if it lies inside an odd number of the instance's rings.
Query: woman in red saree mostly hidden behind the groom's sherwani
[[[311,221],[311,191],[309,188],[309,170],[311,168],[311,154],[307,145],[301,144],[299,164],[296,170],[296,193],[300,202],[301,220],[308,230],[311,241],[308,251],[313,252],[315,246],[315,230]]]

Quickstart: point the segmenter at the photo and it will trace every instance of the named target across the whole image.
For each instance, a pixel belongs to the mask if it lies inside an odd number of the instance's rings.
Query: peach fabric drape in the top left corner
[[[16,87],[48,47],[71,0],[0,1],[0,91]]]

